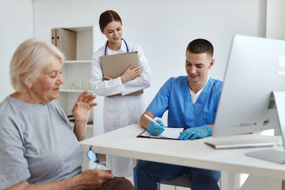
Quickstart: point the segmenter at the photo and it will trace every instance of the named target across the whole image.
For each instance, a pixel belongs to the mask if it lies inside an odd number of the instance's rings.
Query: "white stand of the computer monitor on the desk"
[[[274,91],[274,100],[276,104],[276,111],[279,118],[279,125],[281,131],[281,137],[283,144],[285,142],[285,91]],[[279,164],[285,163],[285,153],[283,151],[278,151],[275,149],[262,149],[255,152],[246,153],[249,157],[254,157],[258,159],[264,159],[270,162],[276,162]]]

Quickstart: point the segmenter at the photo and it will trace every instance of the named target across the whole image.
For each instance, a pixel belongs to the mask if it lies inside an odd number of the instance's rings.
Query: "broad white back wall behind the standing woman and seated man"
[[[210,75],[222,80],[232,37],[266,33],[266,0],[33,0],[33,8],[34,35],[43,41],[50,41],[51,28],[98,25],[103,11],[117,11],[124,38],[140,43],[150,63],[152,86],[145,90],[147,105],[168,78],[186,74],[185,49],[193,39],[207,38],[213,43],[216,64]],[[103,46],[100,31],[95,31],[94,41],[93,51]],[[100,105],[102,100],[98,99]],[[100,115],[96,120],[102,120],[102,107],[96,109]]]

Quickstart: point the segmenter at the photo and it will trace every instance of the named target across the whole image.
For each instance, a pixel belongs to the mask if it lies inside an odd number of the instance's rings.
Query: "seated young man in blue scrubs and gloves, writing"
[[[187,76],[167,80],[144,113],[155,118],[162,117],[168,110],[168,126],[188,128],[180,134],[181,140],[204,138],[212,133],[223,84],[208,76],[209,68],[214,65],[213,53],[212,43],[207,40],[190,42],[185,61]],[[140,117],[140,125],[152,135],[159,135],[164,130],[163,122],[156,121],[160,125],[150,122],[143,115]],[[184,174],[190,174],[192,190],[219,189],[220,171],[147,161],[140,162],[134,168],[135,189],[156,190],[157,183]]]

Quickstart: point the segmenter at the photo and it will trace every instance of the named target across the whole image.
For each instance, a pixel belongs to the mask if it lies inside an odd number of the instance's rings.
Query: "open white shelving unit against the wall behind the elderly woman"
[[[71,110],[78,95],[84,90],[91,91],[89,80],[93,53],[93,26],[61,28],[76,32],[76,60],[64,61],[62,69],[64,83],[60,87],[60,95],[56,100],[66,115],[72,115]],[[90,113],[89,120],[93,120],[93,111]],[[88,125],[86,130],[86,138],[90,137],[93,137],[93,124]]]

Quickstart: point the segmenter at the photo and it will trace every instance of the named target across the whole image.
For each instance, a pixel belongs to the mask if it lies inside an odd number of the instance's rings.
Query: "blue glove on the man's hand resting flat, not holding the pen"
[[[202,139],[204,137],[208,137],[211,133],[212,129],[208,125],[203,125],[200,127],[191,127],[187,130],[184,130],[183,132],[180,132],[179,139],[180,140],[187,140],[187,139],[194,140],[197,138]]]

